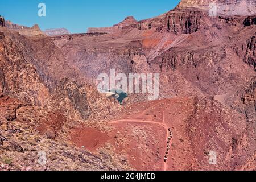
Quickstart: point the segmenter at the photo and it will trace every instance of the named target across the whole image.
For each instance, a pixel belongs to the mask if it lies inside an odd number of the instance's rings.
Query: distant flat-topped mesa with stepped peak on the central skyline
[[[133,16],[128,16],[122,22],[115,24],[113,27],[88,28],[88,33],[112,33],[117,30],[138,28],[138,21]]]

